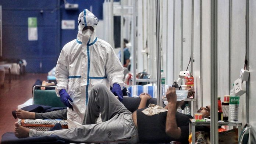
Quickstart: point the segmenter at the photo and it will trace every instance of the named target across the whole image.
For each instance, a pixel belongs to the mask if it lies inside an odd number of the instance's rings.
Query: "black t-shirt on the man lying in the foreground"
[[[170,143],[171,141],[179,141],[182,144],[188,144],[189,119],[192,116],[179,112],[176,113],[176,122],[177,126],[181,129],[181,137],[175,139],[169,137],[165,132],[167,112],[147,116],[142,113],[143,109],[137,110],[139,143]]]

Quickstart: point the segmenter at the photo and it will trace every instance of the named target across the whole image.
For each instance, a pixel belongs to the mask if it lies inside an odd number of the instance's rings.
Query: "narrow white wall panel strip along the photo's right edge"
[[[249,0],[249,55],[250,77],[248,81],[249,123],[252,126],[251,143],[256,143],[256,1]]]

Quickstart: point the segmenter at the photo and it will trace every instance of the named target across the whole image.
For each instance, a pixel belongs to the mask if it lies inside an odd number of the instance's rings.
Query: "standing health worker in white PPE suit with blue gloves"
[[[56,65],[56,93],[68,107],[69,128],[82,125],[92,86],[112,86],[120,101],[123,97],[124,68],[110,44],[96,37],[97,23],[87,9],[79,14],[77,39],[65,44]]]

